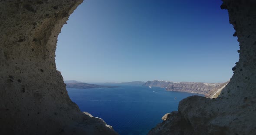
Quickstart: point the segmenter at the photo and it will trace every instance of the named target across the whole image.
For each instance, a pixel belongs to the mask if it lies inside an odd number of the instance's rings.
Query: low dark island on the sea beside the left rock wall
[[[92,88],[117,88],[119,86],[107,86],[107,85],[96,85],[96,84],[87,84],[82,83],[76,80],[65,80],[67,88],[76,88],[76,89],[92,89]]]

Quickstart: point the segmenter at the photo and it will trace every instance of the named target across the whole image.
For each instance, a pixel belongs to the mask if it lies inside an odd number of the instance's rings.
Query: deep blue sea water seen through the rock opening
[[[178,109],[179,101],[187,96],[200,95],[165,91],[159,87],[112,86],[120,87],[67,90],[82,112],[102,118],[120,135],[146,135],[162,122],[164,114]]]

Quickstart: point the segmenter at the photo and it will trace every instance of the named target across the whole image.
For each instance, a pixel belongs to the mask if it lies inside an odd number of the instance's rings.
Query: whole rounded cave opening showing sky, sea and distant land
[[[233,75],[239,49],[220,4],[82,3],[63,26],[56,50],[56,67],[71,100],[120,135],[146,135],[187,96],[217,98]]]

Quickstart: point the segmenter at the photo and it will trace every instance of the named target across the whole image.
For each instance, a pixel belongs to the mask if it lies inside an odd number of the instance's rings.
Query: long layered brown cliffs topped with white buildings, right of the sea
[[[221,90],[226,86],[225,83],[197,83],[197,82],[171,82],[165,80],[147,81],[143,86],[161,87],[167,91],[180,91],[188,93],[203,94],[209,98],[216,98],[220,95]]]

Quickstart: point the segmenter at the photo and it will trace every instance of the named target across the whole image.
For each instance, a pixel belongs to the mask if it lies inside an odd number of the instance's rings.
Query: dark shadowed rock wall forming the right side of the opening
[[[223,0],[240,42],[233,77],[217,99],[190,96],[148,135],[256,135],[256,1]],[[184,127],[185,126],[185,127]]]

